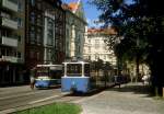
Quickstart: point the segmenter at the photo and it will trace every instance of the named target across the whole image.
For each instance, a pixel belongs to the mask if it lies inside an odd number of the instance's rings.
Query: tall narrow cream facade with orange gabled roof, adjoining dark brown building
[[[79,0],[65,4],[63,9],[66,10],[66,58],[83,58],[86,26],[83,4]]]

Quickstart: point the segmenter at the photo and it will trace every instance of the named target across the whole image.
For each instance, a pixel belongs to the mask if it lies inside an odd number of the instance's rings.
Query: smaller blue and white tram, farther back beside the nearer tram
[[[36,88],[49,88],[61,84],[62,65],[37,65]]]

